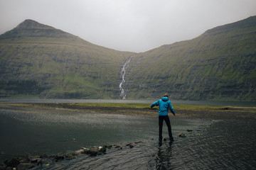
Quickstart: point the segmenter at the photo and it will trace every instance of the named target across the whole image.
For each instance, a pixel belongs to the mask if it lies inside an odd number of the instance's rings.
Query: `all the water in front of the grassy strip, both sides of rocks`
[[[255,119],[212,123],[170,118],[175,141],[159,146],[157,116],[0,106],[1,159],[117,144],[123,149],[107,149],[106,154],[97,157],[44,162],[34,169],[255,169]],[[178,132],[187,137],[178,137]],[[132,149],[125,146],[137,141],[143,143]]]

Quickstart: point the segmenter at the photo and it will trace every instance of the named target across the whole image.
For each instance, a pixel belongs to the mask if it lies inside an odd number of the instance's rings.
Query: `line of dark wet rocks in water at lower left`
[[[125,146],[132,148],[136,145],[143,143],[142,141],[129,143]],[[53,162],[58,162],[60,160],[70,160],[75,159],[77,157],[81,157],[82,155],[88,155],[90,157],[96,157],[100,154],[105,154],[107,152],[107,149],[122,149],[119,145],[103,145],[101,147],[92,147],[90,149],[83,147],[82,149],[79,149],[72,153],[66,153],[63,155],[51,155],[48,156],[47,154],[42,154],[40,157],[21,157],[21,158],[12,158],[12,159],[6,159],[4,161],[4,164],[0,164],[0,170],[2,169],[31,169],[34,166],[49,166]]]

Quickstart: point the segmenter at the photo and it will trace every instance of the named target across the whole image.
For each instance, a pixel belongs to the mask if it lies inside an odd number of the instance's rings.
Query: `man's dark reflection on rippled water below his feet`
[[[158,153],[156,157],[156,169],[172,169],[171,166],[171,145],[172,142],[169,142],[169,145],[166,144],[162,146],[162,142],[159,142]],[[164,149],[163,147],[167,147]]]

